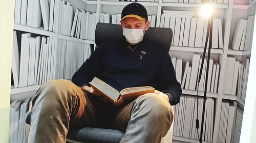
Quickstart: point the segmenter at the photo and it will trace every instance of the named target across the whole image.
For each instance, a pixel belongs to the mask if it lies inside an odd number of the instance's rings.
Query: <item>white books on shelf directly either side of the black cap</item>
[[[150,26],[155,27],[156,26],[156,15],[148,15],[147,16],[148,21],[150,21]],[[101,23],[112,23],[112,24],[121,24],[121,13],[118,14],[112,14],[110,18],[109,13],[100,13],[100,21]]]

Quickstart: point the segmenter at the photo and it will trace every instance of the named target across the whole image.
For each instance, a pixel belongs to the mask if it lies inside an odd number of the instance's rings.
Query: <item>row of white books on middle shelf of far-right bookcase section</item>
[[[246,58],[245,64],[233,56],[227,57],[224,94],[237,95],[245,100],[250,60]]]

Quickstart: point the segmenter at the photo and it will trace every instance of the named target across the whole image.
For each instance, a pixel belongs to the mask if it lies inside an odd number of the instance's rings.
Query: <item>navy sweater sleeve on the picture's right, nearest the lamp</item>
[[[161,56],[157,73],[157,89],[169,96],[171,105],[176,105],[180,102],[181,85],[176,79],[173,63],[167,52],[163,52]]]

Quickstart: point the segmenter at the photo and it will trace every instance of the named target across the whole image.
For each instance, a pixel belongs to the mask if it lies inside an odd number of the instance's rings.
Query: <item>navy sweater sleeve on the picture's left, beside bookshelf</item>
[[[100,73],[102,64],[102,45],[97,47],[90,58],[82,64],[72,77],[72,82],[79,87],[90,86],[89,82]]]

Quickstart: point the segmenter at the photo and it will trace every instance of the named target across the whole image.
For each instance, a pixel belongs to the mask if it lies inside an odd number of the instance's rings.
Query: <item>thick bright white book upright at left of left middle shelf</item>
[[[29,72],[29,45],[30,33],[22,34],[22,44],[20,48],[20,68],[19,68],[19,87],[27,87]]]

